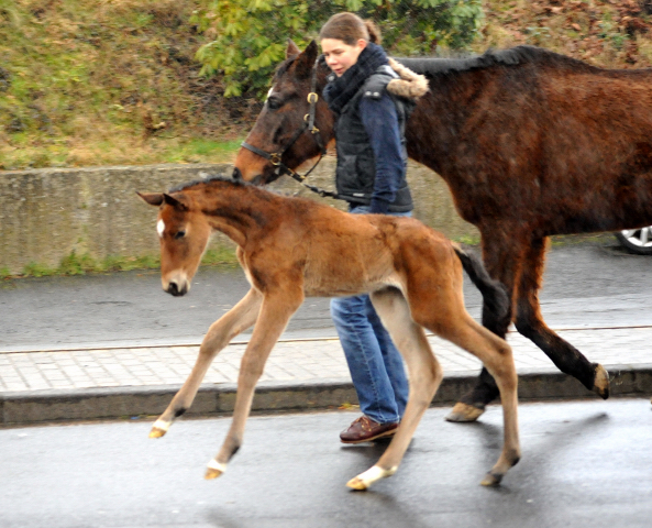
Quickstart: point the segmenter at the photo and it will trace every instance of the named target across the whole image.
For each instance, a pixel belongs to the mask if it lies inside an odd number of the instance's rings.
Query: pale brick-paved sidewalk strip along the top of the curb
[[[652,327],[568,329],[557,333],[590,361],[636,367],[652,363]],[[480,363],[447,341],[428,338],[446,373],[476,374]],[[508,343],[518,370],[556,371],[528,339],[510,332]],[[205,383],[235,383],[245,345],[226,346],[216,358]],[[98,386],[180,385],[199,346],[99,349],[57,352],[0,353],[1,391],[41,391]],[[310,383],[323,378],[349,381],[344,354],[336,339],[277,343],[261,381]]]

